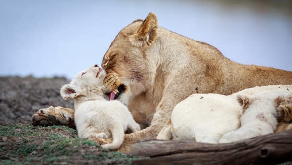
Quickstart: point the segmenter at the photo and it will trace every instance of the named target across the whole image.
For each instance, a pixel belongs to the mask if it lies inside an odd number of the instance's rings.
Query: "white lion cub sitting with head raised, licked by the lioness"
[[[124,141],[125,131],[140,130],[128,108],[119,101],[108,101],[104,95],[106,72],[98,65],[77,73],[70,84],[61,88],[64,99],[73,99],[75,124],[80,138],[113,138],[103,148],[117,149]]]

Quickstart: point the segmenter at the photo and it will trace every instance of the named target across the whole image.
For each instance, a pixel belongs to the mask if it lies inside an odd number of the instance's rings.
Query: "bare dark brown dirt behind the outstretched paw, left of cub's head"
[[[0,125],[29,124],[31,116],[48,106],[73,108],[73,100],[63,100],[60,88],[64,77],[0,77]]]

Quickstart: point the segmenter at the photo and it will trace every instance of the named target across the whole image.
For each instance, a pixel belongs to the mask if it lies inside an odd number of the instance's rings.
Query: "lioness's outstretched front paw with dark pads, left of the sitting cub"
[[[37,111],[32,116],[34,126],[64,125],[75,128],[74,109],[64,107],[48,107]]]

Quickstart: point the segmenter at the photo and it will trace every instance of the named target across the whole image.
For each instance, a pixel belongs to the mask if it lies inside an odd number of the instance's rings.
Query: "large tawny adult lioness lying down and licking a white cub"
[[[109,91],[118,89],[115,98],[145,128],[125,135],[119,148],[123,152],[140,139],[156,138],[174,106],[193,93],[229,95],[255,86],[292,84],[292,72],[233,62],[209,44],[158,27],[154,13],[118,33],[102,67],[107,72],[104,85]],[[60,113],[49,114],[62,118]],[[46,117],[37,113],[33,119],[37,124]]]

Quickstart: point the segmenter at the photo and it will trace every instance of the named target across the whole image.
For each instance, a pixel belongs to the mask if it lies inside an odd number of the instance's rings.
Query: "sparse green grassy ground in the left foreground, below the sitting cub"
[[[138,157],[103,149],[96,142],[79,139],[64,126],[0,126],[0,165],[130,164]]]

